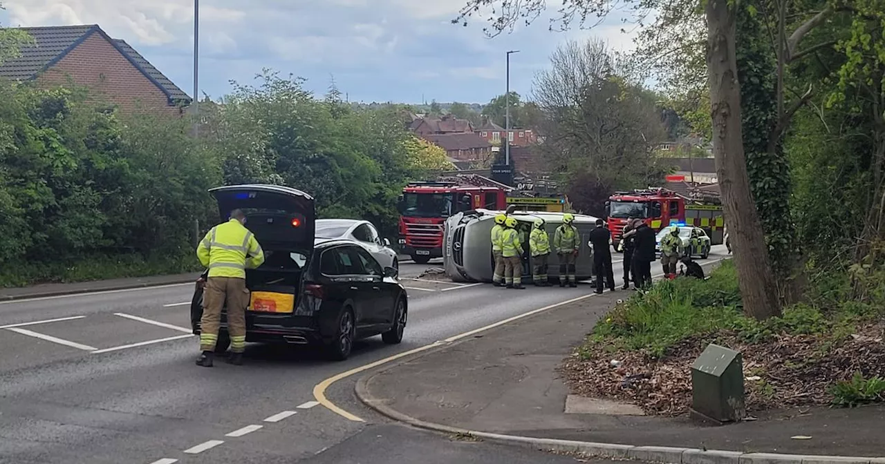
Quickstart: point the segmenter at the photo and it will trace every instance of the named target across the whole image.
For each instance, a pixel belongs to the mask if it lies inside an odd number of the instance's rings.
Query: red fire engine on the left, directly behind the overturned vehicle
[[[508,191],[499,186],[461,186],[456,182],[412,182],[399,201],[399,246],[423,264],[443,256],[447,217],[471,209],[506,209]]]

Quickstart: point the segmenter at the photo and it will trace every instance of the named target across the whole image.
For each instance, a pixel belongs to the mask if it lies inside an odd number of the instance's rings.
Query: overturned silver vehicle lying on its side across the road
[[[456,213],[445,222],[443,230],[443,268],[446,275],[455,282],[491,282],[495,270],[492,258],[491,230],[495,225],[495,216],[504,211],[476,209]],[[528,249],[528,235],[532,231],[535,219],[544,220],[544,230],[550,234],[550,241],[565,213],[547,211],[517,211],[511,217],[518,221],[517,230],[523,242],[522,279],[531,282],[532,262]],[[590,231],[596,228],[596,217],[575,214],[574,225],[578,228],[580,244],[575,274],[578,280],[593,277],[593,250],[587,245]],[[552,248],[552,243],[551,243]],[[550,250],[548,276],[556,280],[559,277],[559,263],[556,252]]]

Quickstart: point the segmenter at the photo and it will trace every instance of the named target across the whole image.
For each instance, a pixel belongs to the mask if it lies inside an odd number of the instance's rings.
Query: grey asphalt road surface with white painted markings
[[[314,401],[343,371],[592,291],[416,279],[434,265],[402,265],[404,342],[369,338],[343,362],[250,345],[243,366],[196,367],[191,284],[0,302],[0,463],[573,462],[389,423],[358,404],[359,376],[326,394],[366,422]]]

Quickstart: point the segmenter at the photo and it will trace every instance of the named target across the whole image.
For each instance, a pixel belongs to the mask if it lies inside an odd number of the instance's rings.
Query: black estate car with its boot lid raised
[[[234,209],[246,214],[246,227],[264,249],[265,262],[246,270],[251,292],[246,311],[250,342],[324,346],[336,360],[350,355],[353,341],[381,334],[402,341],[408,297],[397,271],[382,269],[374,257],[350,240],[314,238],[311,195],[287,186],[221,186],[210,190],[221,217]],[[200,333],[206,272],[196,281],[190,317]],[[216,351],[230,345],[226,311]]]

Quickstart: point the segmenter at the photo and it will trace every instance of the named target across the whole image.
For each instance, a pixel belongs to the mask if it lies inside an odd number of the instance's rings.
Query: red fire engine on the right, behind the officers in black
[[[659,232],[671,223],[685,222],[685,199],[665,188],[615,192],[605,202],[605,216],[612,232],[612,243],[618,249],[627,218],[643,219],[645,224]]]

